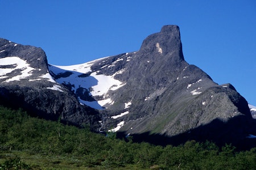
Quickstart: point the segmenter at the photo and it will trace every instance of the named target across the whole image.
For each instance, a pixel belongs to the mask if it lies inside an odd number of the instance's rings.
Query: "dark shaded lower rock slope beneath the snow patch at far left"
[[[63,92],[55,90],[38,91],[18,85],[9,88],[0,86],[0,105],[11,109],[21,108],[32,117],[52,121],[60,119],[64,124],[78,127],[89,125],[92,130],[98,128],[96,121],[100,120],[95,109],[80,105],[71,94],[63,95]]]

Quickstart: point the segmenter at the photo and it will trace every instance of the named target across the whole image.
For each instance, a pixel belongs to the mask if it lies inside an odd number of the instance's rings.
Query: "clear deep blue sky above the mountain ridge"
[[[180,27],[185,60],[256,105],[256,1],[3,1],[0,37],[73,65],[133,52],[163,25]]]

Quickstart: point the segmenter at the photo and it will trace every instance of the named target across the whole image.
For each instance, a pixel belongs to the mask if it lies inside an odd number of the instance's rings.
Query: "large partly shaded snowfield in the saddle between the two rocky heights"
[[[71,91],[73,91],[75,94],[77,89],[82,87],[88,90],[89,95],[93,97],[101,96],[101,100],[97,101],[85,101],[80,99],[80,97],[77,97],[80,104],[88,105],[94,109],[104,109],[104,105],[114,103],[114,101],[112,101],[112,99],[110,99],[108,96],[108,91],[115,91],[124,86],[125,83],[114,79],[115,74],[121,74],[120,71],[117,71],[117,73],[114,73],[113,75],[98,74],[97,71],[92,73],[92,69],[90,67],[95,61],[100,59],[71,66],[49,65],[48,69],[55,75],[68,73],[68,76],[60,76],[60,78],[57,78],[56,82],[60,84],[70,84]]]

